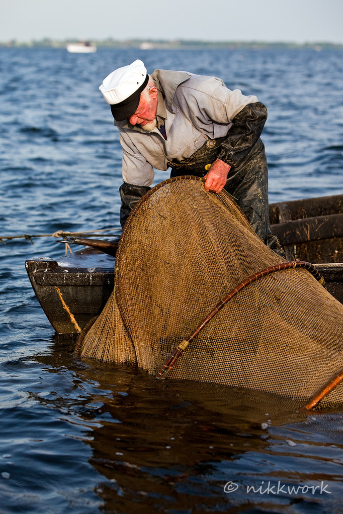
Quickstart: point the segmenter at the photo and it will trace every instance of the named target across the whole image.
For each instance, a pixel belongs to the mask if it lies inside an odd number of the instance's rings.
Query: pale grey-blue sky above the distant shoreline
[[[343,0],[3,0],[0,41],[343,43]]]

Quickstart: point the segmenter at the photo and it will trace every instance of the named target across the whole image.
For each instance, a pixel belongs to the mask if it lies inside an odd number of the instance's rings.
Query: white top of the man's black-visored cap
[[[144,63],[137,59],[128,66],[112,71],[103,80],[99,89],[107,103],[117,104],[136,93],[146,78],[147,69]]]

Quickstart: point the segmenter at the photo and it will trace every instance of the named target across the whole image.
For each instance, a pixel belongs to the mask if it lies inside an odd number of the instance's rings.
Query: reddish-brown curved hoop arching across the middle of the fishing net
[[[167,377],[167,374],[173,368],[173,366],[174,366],[175,362],[177,361],[177,359],[179,358],[179,356],[184,353],[184,351],[186,350],[186,348],[189,345],[189,343],[191,341],[193,341],[195,336],[197,336],[202,331],[202,329],[205,327],[205,325],[207,325],[207,323],[217,313],[219,313],[219,311],[230,300],[232,300],[232,298],[235,297],[237,295],[237,293],[239,293],[244,287],[246,287],[247,285],[251,284],[251,282],[255,282],[255,280],[257,280],[257,279],[261,279],[262,277],[265,277],[269,273],[273,273],[275,271],[280,271],[280,270],[283,270],[283,269],[290,269],[290,268],[305,268],[306,270],[308,270],[313,275],[313,277],[321,285],[324,285],[324,279],[320,276],[320,274],[318,273],[316,268],[314,266],[312,266],[312,264],[310,264],[308,262],[305,262],[305,261],[288,261],[288,262],[284,262],[284,263],[281,263],[281,264],[275,264],[274,266],[269,266],[269,268],[262,269],[258,273],[255,273],[254,275],[252,275],[248,279],[244,280],[244,282],[241,282],[238,286],[236,286],[234,289],[232,289],[232,291],[230,291],[228,293],[228,295],[226,295],[224,298],[222,298],[222,300],[220,300],[220,302],[218,304],[216,304],[214,309],[211,310],[210,314],[204,319],[204,321],[202,323],[200,323],[200,325],[198,325],[195,328],[194,332],[190,336],[188,336],[186,339],[184,339],[182,342],[180,342],[180,344],[178,344],[176,346],[174,351],[165,360],[162,368],[157,373],[156,378],[158,380],[164,380]]]

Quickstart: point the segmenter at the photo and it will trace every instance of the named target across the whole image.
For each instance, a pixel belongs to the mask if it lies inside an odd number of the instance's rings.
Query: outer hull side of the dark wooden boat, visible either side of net
[[[87,250],[79,252],[87,255]],[[93,256],[97,255],[92,249]],[[101,257],[101,253],[99,252]],[[51,259],[26,261],[33,290],[52,327],[59,334],[77,334],[98,316],[114,287],[114,259],[106,256],[105,266],[67,268]],[[343,263],[315,265],[327,290],[343,303]]]

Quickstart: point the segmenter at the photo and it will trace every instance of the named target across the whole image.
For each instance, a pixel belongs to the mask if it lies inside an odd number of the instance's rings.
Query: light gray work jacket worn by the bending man
[[[256,96],[228,89],[216,77],[157,69],[152,78],[164,95],[167,139],[157,127],[148,133],[128,120],[114,122],[123,149],[123,181],[137,186],[152,184],[153,168],[167,170],[169,161],[190,157],[206,139],[226,136],[232,119],[258,102]]]

